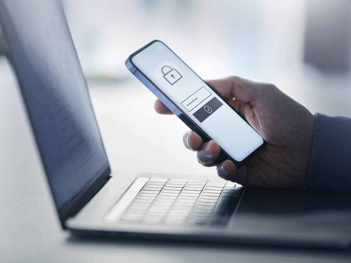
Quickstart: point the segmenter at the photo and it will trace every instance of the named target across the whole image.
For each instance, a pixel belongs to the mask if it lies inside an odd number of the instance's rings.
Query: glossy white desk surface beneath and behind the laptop
[[[347,251],[71,236],[60,228],[15,77],[8,63],[0,62],[1,262],[350,262]],[[136,79],[89,86],[114,174],[217,176],[184,148],[187,127],[175,116],[155,114],[154,96]]]

